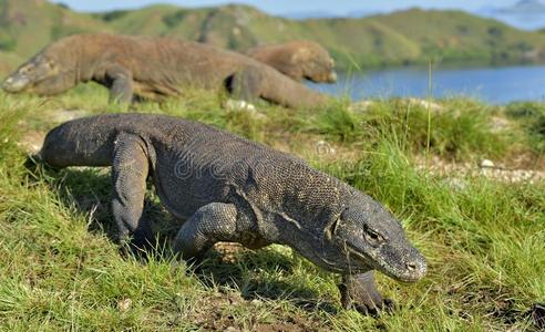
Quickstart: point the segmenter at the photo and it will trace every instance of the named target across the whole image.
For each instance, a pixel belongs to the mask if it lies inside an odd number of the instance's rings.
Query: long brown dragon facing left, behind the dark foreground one
[[[197,42],[113,34],[78,34],[51,43],[9,75],[3,90],[62,93],[80,82],[110,89],[110,100],[161,100],[184,87],[227,89],[237,100],[261,97],[288,107],[311,107],[327,97],[240,53]]]

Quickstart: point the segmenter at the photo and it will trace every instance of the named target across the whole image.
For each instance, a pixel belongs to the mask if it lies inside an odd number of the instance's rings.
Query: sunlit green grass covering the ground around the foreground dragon
[[[415,284],[379,276],[380,290],[399,308],[377,319],[341,309],[339,277],[282,246],[239,250],[233,260],[210,252],[194,272],[172,260],[168,241],[179,221],[152,190],[146,214],[162,235],[158,252],[146,263],[120,255],[110,239],[107,169],[23,166],[19,143],[28,133],[73,114],[127,111],[107,105],[103,89],[84,85],[54,98],[0,95],[0,330],[537,330],[528,311],[545,302],[543,180],[504,184],[421,170],[429,110],[407,101],[377,101],[366,111],[349,111],[343,101],[318,111],[261,104],[251,114],[225,111],[225,98],[188,91],[128,111],[194,118],[291,151],[383,203],[429,262]],[[442,110],[430,117],[428,156],[508,163],[513,155],[543,155],[521,138],[543,142],[527,125],[534,113],[436,102]],[[502,131],[490,125],[498,116],[510,123]],[[325,157],[320,141],[335,153]]]

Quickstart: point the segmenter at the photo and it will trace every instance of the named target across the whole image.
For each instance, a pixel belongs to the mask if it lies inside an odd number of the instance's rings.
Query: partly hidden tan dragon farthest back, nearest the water
[[[313,41],[291,41],[256,46],[244,52],[300,82],[335,83],[335,60]]]

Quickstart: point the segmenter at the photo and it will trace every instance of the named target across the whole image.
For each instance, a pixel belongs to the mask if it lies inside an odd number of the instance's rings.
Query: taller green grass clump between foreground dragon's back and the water
[[[429,148],[449,159],[501,157],[514,143],[512,133],[494,131],[490,122],[493,111],[486,105],[444,100],[440,107],[429,110],[404,100],[374,101],[360,111],[340,105],[315,114],[302,129],[350,145],[373,146],[388,137],[403,151]]]

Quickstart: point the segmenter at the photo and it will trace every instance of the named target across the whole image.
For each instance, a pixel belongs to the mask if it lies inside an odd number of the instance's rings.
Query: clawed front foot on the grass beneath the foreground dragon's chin
[[[342,276],[342,284],[339,289],[345,309],[356,309],[364,314],[376,315],[393,304],[390,299],[382,299],[377,290],[372,270],[356,276]]]

